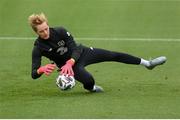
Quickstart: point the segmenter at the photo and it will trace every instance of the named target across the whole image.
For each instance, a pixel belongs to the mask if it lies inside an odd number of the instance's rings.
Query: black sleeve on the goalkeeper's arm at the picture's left
[[[31,77],[33,79],[37,79],[42,75],[37,73],[37,69],[40,66],[41,66],[41,52],[36,46],[34,46],[32,51],[32,71],[31,71]]]

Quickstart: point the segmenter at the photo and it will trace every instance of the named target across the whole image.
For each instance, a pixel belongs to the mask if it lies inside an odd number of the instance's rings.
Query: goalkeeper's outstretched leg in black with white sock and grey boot
[[[148,61],[126,53],[113,52],[113,51],[95,48],[95,49],[91,49],[90,52],[88,53],[85,61],[85,65],[98,63],[98,62],[105,62],[105,61],[116,61],[126,64],[134,64],[134,65],[140,64],[152,70],[156,66],[164,64],[166,60],[167,58],[165,56],[161,56]]]

